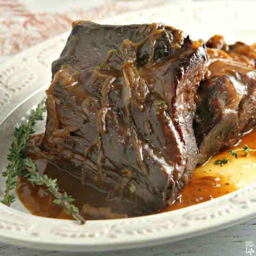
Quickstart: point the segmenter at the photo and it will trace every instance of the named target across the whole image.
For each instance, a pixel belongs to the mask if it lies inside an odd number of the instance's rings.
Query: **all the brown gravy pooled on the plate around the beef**
[[[38,145],[41,138],[42,135],[35,135],[31,138],[31,145]],[[241,148],[244,144],[250,148],[256,148],[254,138],[256,138],[256,130],[247,134],[239,145],[232,149]],[[232,157],[229,163],[223,166],[214,164],[215,160],[227,157],[228,150],[214,155],[204,166],[198,166],[189,185],[183,190],[177,201],[162,209],[161,212],[209,201],[256,182],[256,153],[243,156],[243,153],[239,152],[238,159]],[[84,204],[94,207],[102,206],[102,202],[106,198],[105,193],[101,193],[91,186],[82,185],[81,180],[59,170],[57,166],[34,153],[30,153],[29,157],[37,164],[39,173],[47,174],[52,179],[58,179],[60,191],[66,191],[68,195],[72,195],[75,198],[74,204],[79,209],[82,209]],[[53,203],[54,197],[45,186],[33,185],[26,178],[19,177],[16,191],[22,204],[32,214],[49,218],[71,219],[62,206]]]

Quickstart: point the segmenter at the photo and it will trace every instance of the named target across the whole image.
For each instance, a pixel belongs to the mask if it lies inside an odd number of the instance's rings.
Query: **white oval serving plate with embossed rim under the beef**
[[[141,10],[101,23],[142,23],[162,21],[183,29],[191,38],[207,39],[215,33],[228,42],[256,42],[256,3],[215,2],[164,6]],[[14,125],[45,95],[51,78],[51,62],[58,58],[65,33],[20,53],[0,66],[0,130],[12,138]],[[38,132],[44,125],[38,124]],[[10,138],[2,133],[0,172],[4,171]],[[0,196],[4,180],[0,179]],[[147,217],[75,221],[36,217],[20,202],[9,208],[0,204],[0,241],[40,249],[69,251],[116,250],[177,241],[204,234],[252,218],[256,214],[256,184],[209,202]]]

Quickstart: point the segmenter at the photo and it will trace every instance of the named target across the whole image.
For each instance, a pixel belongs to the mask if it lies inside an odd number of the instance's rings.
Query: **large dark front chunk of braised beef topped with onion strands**
[[[162,23],[74,22],[52,65],[42,150],[106,191],[110,209],[157,212],[197,164],[194,95],[206,62],[204,45]]]

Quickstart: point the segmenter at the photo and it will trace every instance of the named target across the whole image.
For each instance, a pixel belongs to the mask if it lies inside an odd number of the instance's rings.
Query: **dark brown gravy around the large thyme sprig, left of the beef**
[[[99,193],[98,190],[92,187],[82,185],[81,180],[59,170],[58,167],[49,163],[46,159],[36,159],[35,162],[39,173],[47,174],[52,179],[58,179],[60,191],[66,191],[68,195],[72,195],[76,199],[74,204],[79,209],[82,209],[85,202],[95,207],[101,206],[100,202],[103,202],[106,194]],[[49,218],[69,218],[62,206],[53,203],[55,198],[47,191],[45,186],[32,185],[26,178],[19,177],[17,194],[23,205],[34,215]],[[99,203],[97,204],[97,202]]]

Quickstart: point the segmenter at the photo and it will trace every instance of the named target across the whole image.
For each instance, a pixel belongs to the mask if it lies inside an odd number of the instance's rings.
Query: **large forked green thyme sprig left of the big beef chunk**
[[[10,206],[15,201],[15,195],[11,193],[17,185],[17,176],[28,178],[30,183],[38,186],[45,185],[47,189],[55,196],[54,203],[62,205],[67,209],[67,213],[72,215],[75,220],[80,220],[85,223],[84,218],[79,214],[78,208],[72,204],[74,198],[68,196],[66,192],[63,194],[59,191],[57,179],[52,179],[46,174],[39,174],[37,166],[33,163],[32,159],[26,156],[30,135],[34,133],[33,127],[36,121],[43,120],[43,113],[46,111],[44,101],[39,103],[32,115],[28,119],[26,125],[15,127],[14,141],[10,148],[10,154],[7,159],[11,162],[6,166],[6,171],[2,173],[6,178],[5,195],[3,204]]]

